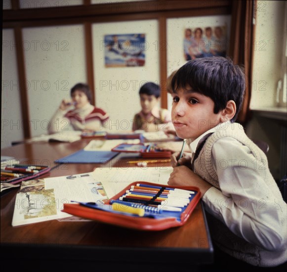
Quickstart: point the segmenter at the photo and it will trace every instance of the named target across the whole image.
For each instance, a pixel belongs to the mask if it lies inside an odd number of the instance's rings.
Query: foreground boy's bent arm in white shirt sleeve
[[[212,158],[221,190],[206,191],[207,211],[249,243],[282,250],[287,242],[287,205],[269,173],[266,156],[262,164],[246,145],[225,137],[213,144]]]

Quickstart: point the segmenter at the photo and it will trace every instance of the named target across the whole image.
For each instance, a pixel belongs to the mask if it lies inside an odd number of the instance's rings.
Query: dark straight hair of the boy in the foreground
[[[234,122],[241,109],[245,92],[245,75],[230,58],[205,57],[188,61],[178,69],[171,81],[173,92],[177,89],[197,91],[210,97],[216,114],[226,107],[228,100],[236,104]]]

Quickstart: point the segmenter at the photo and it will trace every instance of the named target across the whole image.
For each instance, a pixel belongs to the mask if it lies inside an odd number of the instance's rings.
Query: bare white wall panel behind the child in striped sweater
[[[50,119],[71,88],[86,83],[82,25],[23,29],[31,136],[47,134]]]

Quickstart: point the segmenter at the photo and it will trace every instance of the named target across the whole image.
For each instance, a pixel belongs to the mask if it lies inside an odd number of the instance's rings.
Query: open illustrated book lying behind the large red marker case
[[[61,211],[65,203],[109,199],[134,181],[167,184],[171,172],[172,167],[106,167],[90,173],[23,181],[16,195],[12,226],[68,220],[72,216]]]

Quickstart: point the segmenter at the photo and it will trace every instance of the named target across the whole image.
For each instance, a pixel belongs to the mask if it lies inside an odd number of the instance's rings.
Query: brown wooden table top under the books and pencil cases
[[[90,139],[82,139],[72,143],[34,142],[14,145],[1,150],[1,155],[25,159],[25,163],[56,166],[54,161],[82,149]],[[128,158],[137,158],[135,154],[128,154]],[[117,165],[126,160],[126,154],[114,158],[110,165]],[[166,165],[166,164],[165,164]],[[98,164],[66,164],[58,165],[41,178],[68,176],[92,172]],[[60,249],[69,249],[67,259],[97,260],[97,264],[107,264],[107,253],[117,257],[115,262],[128,262],[129,258],[136,258],[138,254],[149,257],[156,255],[164,258],[164,264],[181,261],[182,264],[211,263],[213,247],[209,237],[202,203],[196,206],[190,218],[181,227],[173,227],[161,231],[139,231],[123,227],[116,227],[95,221],[58,221],[51,220],[25,226],[12,227],[12,216],[15,197],[18,188],[1,195],[1,247],[7,252],[15,254],[21,252],[23,258],[29,258],[27,249],[35,254],[46,253],[52,249],[54,258],[59,259]],[[25,249],[25,250],[24,250]],[[23,255],[23,252],[26,252]],[[49,251],[50,252],[50,251]],[[119,253],[121,252],[121,253]],[[62,253],[61,253],[62,254]],[[61,255],[60,254],[60,255]],[[42,256],[42,255],[41,255]],[[75,258],[75,256],[77,256]],[[129,257],[128,257],[129,256]],[[128,258],[127,258],[128,257]],[[169,258],[170,257],[170,258]],[[137,262],[140,264],[141,262]]]

